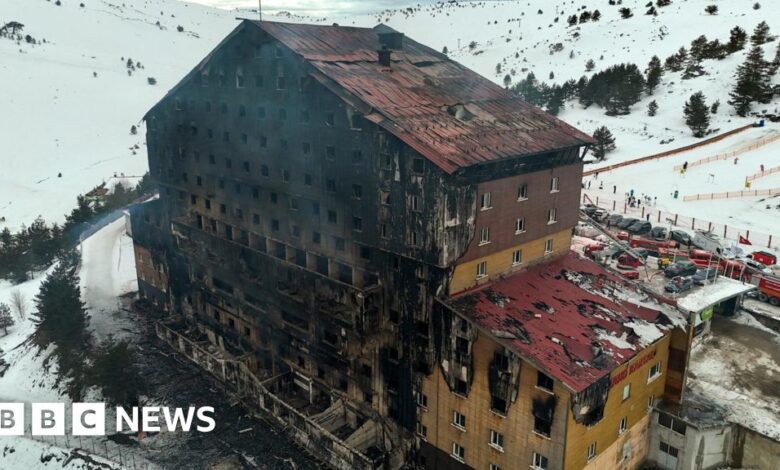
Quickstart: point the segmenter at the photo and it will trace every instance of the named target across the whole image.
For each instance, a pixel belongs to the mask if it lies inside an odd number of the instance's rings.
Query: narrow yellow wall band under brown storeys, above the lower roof
[[[552,243],[552,251],[548,252],[549,243]],[[482,258],[457,264],[450,281],[449,293],[454,295],[499,276],[525,269],[540,261],[558,257],[567,253],[570,246],[571,229],[567,228]],[[514,253],[517,250],[520,250],[520,263],[515,263]],[[485,264],[480,267],[481,263]]]

